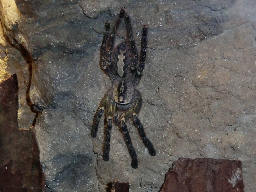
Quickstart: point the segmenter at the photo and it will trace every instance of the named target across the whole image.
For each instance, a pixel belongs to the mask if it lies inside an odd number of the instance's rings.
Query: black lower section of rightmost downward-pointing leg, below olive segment
[[[146,146],[146,148],[148,148],[149,154],[151,156],[155,156],[156,150],[155,150],[153,144],[151,143],[151,141],[146,137],[146,133],[145,133],[143,126],[141,125],[141,122],[137,115],[133,115],[133,124],[137,127],[139,135],[140,135],[144,145]]]

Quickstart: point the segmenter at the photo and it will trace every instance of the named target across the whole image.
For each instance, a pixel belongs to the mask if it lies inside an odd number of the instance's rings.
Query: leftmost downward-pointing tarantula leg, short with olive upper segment
[[[106,104],[108,102],[108,93],[104,95],[104,97],[102,98],[100,105],[94,115],[94,119],[93,119],[93,124],[92,124],[92,130],[91,130],[91,136],[92,137],[96,137],[97,135],[97,131],[98,131],[98,125],[100,122],[100,118],[104,112],[104,109],[106,107]]]

